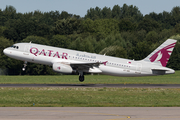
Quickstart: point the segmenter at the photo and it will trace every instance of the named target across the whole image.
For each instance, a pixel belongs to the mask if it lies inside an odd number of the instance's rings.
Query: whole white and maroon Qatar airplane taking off
[[[157,49],[142,60],[129,60],[95,53],[88,53],[34,43],[16,43],[3,50],[4,54],[27,62],[52,66],[55,72],[63,74],[79,73],[79,81],[84,81],[84,73],[98,73],[113,76],[154,76],[173,74],[167,62],[177,40],[167,39]]]

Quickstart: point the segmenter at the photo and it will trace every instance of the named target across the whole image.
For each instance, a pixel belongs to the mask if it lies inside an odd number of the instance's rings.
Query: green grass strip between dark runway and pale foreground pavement
[[[180,89],[0,88],[1,107],[180,107]]]

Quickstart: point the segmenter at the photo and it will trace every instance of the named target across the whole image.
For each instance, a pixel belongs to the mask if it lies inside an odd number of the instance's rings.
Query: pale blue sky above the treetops
[[[35,10],[41,12],[67,11],[70,14],[84,17],[90,8],[110,7],[123,4],[133,5],[139,8],[143,15],[151,12],[162,13],[171,12],[175,6],[180,6],[179,0],[0,0],[0,9],[4,10],[7,5],[16,8],[16,12],[28,13]]]

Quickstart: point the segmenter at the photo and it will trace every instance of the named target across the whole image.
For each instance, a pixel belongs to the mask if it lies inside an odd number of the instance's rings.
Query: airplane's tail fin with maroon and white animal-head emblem
[[[168,60],[172,54],[172,51],[176,45],[177,40],[168,39],[155,49],[150,55],[148,55],[144,61],[157,63],[163,67],[166,67]]]

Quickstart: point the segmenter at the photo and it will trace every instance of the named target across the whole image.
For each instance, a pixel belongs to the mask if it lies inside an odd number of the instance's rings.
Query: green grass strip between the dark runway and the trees
[[[0,76],[0,84],[180,84],[180,71],[171,75],[147,77],[85,75],[82,83],[79,82],[78,75]]]

